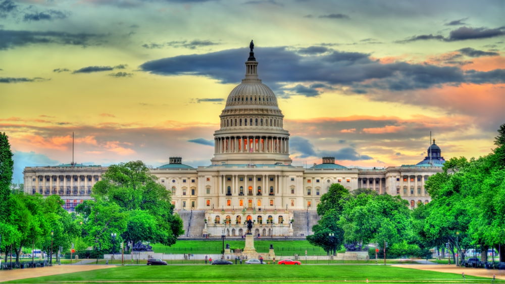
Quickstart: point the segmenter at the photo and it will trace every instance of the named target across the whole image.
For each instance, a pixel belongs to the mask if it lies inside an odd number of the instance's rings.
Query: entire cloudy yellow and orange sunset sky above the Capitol
[[[505,2],[0,0],[0,131],[25,166],[182,156],[213,133],[255,42],[293,165],[479,157],[505,123]]]

